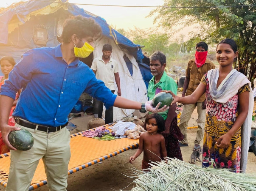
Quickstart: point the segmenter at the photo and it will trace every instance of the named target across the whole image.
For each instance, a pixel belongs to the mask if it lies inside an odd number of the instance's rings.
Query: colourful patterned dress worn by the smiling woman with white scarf
[[[240,172],[241,128],[231,138],[231,143],[227,148],[220,149],[215,145],[215,142],[232,128],[238,115],[238,95],[250,91],[250,87],[248,84],[243,85],[236,95],[222,104],[215,102],[211,97],[207,74],[203,76],[201,82],[206,86],[205,96],[207,100],[203,138],[203,166],[211,165],[211,159],[213,159],[214,167],[234,169],[234,172]]]

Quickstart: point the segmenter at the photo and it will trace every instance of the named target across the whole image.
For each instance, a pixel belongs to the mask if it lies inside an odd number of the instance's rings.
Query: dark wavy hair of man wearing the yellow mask
[[[93,18],[85,18],[78,15],[65,20],[61,36],[62,41],[69,43],[73,34],[76,34],[79,38],[88,36],[99,38],[101,36],[101,27]]]

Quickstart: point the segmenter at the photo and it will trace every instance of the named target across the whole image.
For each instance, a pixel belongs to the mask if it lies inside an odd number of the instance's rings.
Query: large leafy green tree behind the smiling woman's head
[[[255,0],[164,0],[163,6],[208,8],[156,8],[149,16],[158,13],[154,21],[172,29],[199,24],[193,33],[208,43],[217,43],[223,38],[232,38],[239,46],[238,68],[250,81],[256,75],[256,6]],[[248,5],[234,7],[237,5]],[[218,7],[217,7],[218,6]],[[229,6],[229,7],[219,7]],[[175,33],[175,30],[173,30]]]

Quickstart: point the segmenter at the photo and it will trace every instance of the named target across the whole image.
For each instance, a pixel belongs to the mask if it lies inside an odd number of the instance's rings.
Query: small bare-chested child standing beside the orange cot
[[[165,130],[163,117],[155,113],[150,114],[146,117],[145,126],[147,131],[140,135],[139,148],[135,155],[129,158],[132,163],[143,151],[143,170],[150,168],[149,163],[161,161],[167,156],[164,137],[160,134]]]

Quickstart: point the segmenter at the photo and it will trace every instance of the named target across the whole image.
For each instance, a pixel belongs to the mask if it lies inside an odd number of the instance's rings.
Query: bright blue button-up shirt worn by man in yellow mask
[[[21,88],[13,115],[44,126],[67,123],[83,92],[104,102],[107,108],[116,98],[86,64],[76,59],[68,65],[62,58],[61,44],[25,52],[2,85],[0,95],[15,99]]]

